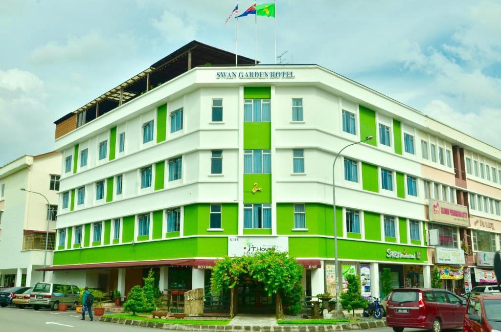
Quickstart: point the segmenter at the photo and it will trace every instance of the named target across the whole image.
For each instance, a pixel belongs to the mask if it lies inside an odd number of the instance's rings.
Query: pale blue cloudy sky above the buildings
[[[240,0],[240,13],[253,4]],[[55,120],[192,40],[234,52],[234,6],[1,0],[0,165],[52,151]],[[277,0],[276,15],[284,63],[321,65],[501,148],[501,1]],[[249,58],[254,23],[238,24]],[[265,64],[274,23],[258,17]]]

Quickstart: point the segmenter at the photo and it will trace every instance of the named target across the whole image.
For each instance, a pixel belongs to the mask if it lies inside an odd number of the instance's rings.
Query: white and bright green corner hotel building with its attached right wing
[[[199,288],[214,260],[276,246],[305,266],[308,295],[334,292],[332,164],[369,135],[335,167],[338,271],[370,278],[365,295],[380,296],[383,267],[395,287],[430,286],[443,256],[427,229],[445,252],[471,249],[470,197],[501,224],[498,149],[318,65],[195,67],[180,50],[188,66],[166,82],[127,90],[151,83],[152,66],[56,121],[55,282],[123,296],[153,267],[161,289]],[[117,105],[101,114],[110,96]],[[471,158],[496,181],[465,172]],[[435,203],[466,215],[430,216]]]

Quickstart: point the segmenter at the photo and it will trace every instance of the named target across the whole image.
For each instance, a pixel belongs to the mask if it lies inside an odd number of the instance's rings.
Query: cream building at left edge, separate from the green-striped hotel
[[[25,155],[0,167],[0,287],[42,281],[47,226],[47,265],[52,265],[59,200],[61,153]],[[26,190],[39,194],[22,191]]]

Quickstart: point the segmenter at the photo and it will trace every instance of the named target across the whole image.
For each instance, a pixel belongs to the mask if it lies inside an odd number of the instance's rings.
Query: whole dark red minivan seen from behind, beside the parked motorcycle
[[[462,327],[466,299],[445,289],[396,288],[388,298],[386,324],[395,332],[405,327],[431,329]]]

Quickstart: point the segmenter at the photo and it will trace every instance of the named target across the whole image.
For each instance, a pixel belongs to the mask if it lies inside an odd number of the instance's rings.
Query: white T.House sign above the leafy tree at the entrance
[[[287,236],[230,236],[228,237],[228,256],[239,257],[256,252],[289,251]]]

